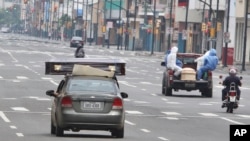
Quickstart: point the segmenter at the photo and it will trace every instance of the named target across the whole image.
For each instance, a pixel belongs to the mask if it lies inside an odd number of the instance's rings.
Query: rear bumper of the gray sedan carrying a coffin
[[[58,116],[58,125],[62,128],[86,130],[120,129],[124,126],[125,114],[122,111],[109,113],[76,113],[63,111]]]

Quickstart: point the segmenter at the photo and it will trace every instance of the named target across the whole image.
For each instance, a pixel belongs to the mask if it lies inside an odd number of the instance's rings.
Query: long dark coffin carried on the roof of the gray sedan
[[[78,67],[78,71],[74,71],[73,73],[73,70],[76,69],[75,65]],[[101,69],[102,71],[106,72],[113,71],[115,75],[125,75],[125,65],[126,62],[122,59],[108,59],[108,58],[52,59],[50,61],[45,62],[45,74],[46,75],[67,75],[67,74],[89,75],[86,72],[86,70],[91,72],[91,69],[93,71],[93,68],[95,68],[99,70]],[[91,68],[87,68],[86,66],[89,66]],[[107,77],[110,77],[110,75],[111,74],[109,74]]]

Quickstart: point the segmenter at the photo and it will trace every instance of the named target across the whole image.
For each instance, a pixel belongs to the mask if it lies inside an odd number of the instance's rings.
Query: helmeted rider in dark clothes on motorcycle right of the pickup
[[[229,69],[229,76],[227,76],[224,81],[222,82],[222,85],[223,86],[226,86],[223,90],[222,90],[222,101],[223,101],[223,104],[222,104],[222,108],[224,108],[226,105],[226,95],[227,93],[229,92],[230,90],[230,84],[232,82],[235,83],[235,88],[236,88],[236,92],[237,92],[237,97],[236,99],[239,101],[240,100],[240,89],[239,89],[239,86],[242,85],[241,83],[241,79],[240,77],[236,76],[237,74],[237,69],[235,68],[230,68]]]

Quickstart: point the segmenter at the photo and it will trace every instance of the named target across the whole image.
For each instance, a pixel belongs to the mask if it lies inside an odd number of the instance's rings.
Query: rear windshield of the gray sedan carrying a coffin
[[[91,80],[91,79],[71,79],[67,86],[68,92],[105,92],[115,93],[116,87],[113,81]]]

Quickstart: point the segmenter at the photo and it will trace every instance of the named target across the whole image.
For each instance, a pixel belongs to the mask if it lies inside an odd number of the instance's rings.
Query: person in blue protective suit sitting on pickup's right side
[[[216,56],[216,50],[210,49],[209,55],[204,58],[204,65],[200,67],[197,72],[197,80],[201,80],[202,75],[207,71],[213,71],[218,64],[218,57]]]

